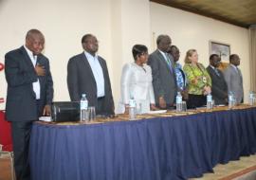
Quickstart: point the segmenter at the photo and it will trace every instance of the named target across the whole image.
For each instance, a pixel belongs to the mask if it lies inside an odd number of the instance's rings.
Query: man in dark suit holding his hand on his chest
[[[48,59],[41,53],[44,45],[44,35],[31,29],[27,32],[26,44],[5,56],[6,115],[11,122],[17,180],[30,179],[27,157],[32,122],[50,115],[53,82]]]

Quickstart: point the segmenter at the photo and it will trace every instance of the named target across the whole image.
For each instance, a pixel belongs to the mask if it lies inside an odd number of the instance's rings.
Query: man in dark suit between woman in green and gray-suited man
[[[216,105],[228,103],[228,85],[222,71],[217,69],[220,61],[217,54],[211,54],[210,65],[207,67],[211,79],[211,95]]]

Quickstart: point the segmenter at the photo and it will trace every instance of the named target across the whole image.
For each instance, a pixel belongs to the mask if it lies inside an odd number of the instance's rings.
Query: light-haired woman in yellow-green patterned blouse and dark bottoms
[[[188,107],[195,108],[206,105],[206,96],[211,91],[211,80],[204,65],[198,63],[198,54],[195,49],[187,51],[183,70],[188,80]]]

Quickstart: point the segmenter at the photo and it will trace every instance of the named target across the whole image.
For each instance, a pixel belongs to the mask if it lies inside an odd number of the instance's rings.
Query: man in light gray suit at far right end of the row
[[[243,77],[240,69],[240,58],[237,54],[229,56],[229,67],[224,71],[224,77],[228,84],[228,90],[234,93],[237,103],[244,101]]]

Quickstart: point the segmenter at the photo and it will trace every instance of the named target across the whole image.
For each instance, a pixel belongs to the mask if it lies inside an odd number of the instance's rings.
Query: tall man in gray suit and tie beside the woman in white
[[[156,39],[157,49],[148,60],[152,68],[155,104],[162,109],[174,106],[177,92],[174,59],[167,53],[171,44],[172,41],[168,35],[159,35]]]

